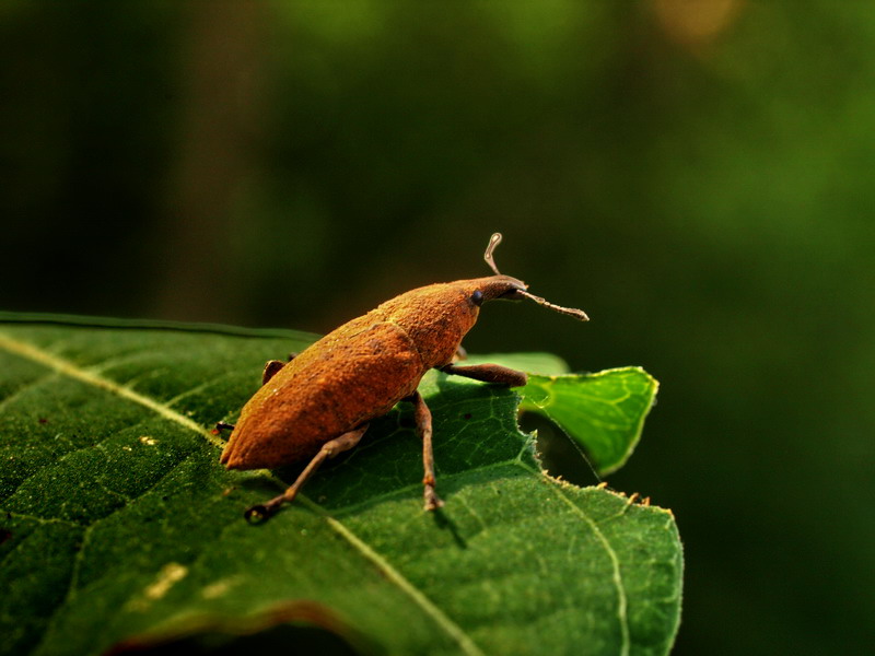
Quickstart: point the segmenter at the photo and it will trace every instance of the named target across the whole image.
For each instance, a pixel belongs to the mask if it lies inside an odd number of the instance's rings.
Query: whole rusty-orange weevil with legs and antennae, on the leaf
[[[483,259],[494,276],[436,283],[386,301],[343,324],[288,362],[265,365],[261,387],[246,402],[232,429],[221,462],[229,469],[272,469],[310,460],[279,496],[254,505],[249,520],[267,518],[294,500],[307,479],[328,458],[361,441],[369,422],[402,400],[412,402],[422,438],[427,511],[443,505],[434,491],[431,412],[417,391],[431,368],[486,383],[520,387],[526,374],[498,364],[455,364],[462,338],[477,321],[480,306],[495,298],[529,298],[556,312],[588,320],[582,309],[555,305],[528,292],[522,280],[499,272],[489,239]]]

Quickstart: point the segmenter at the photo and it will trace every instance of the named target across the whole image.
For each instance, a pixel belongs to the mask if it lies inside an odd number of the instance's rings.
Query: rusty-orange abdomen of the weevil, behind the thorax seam
[[[241,411],[222,453],[229,469],[289,465],[365,421],[386,414],[427,367],[410,338],[373,314],[311,345]]]

